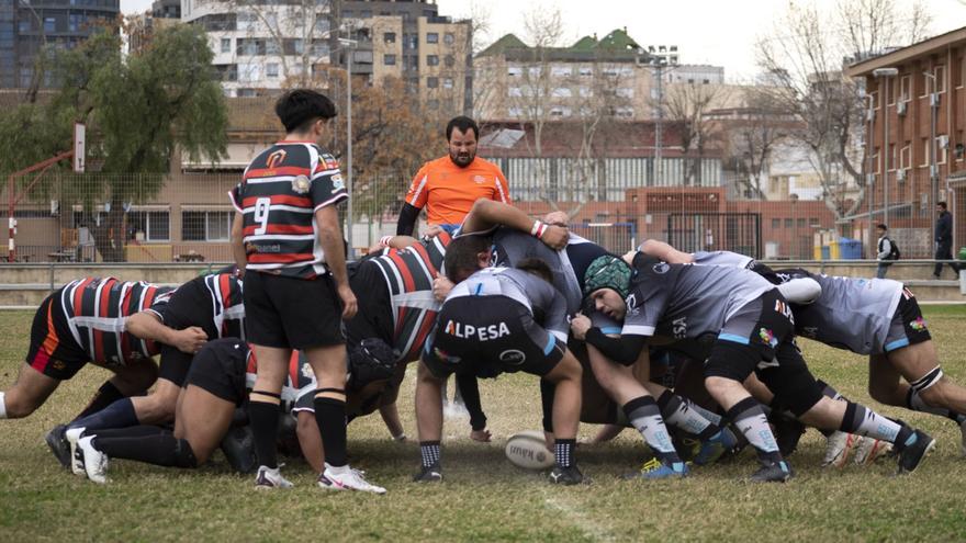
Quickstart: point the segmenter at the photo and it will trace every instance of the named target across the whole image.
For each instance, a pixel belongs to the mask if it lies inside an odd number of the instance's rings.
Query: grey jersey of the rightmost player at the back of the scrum
[[[793,306],[797,335],[858,354],[885,352],[902,283],[818,275],[800,269],[779,270],[775,275],[782,282],[809,278],[822,286],[815,302]]]

